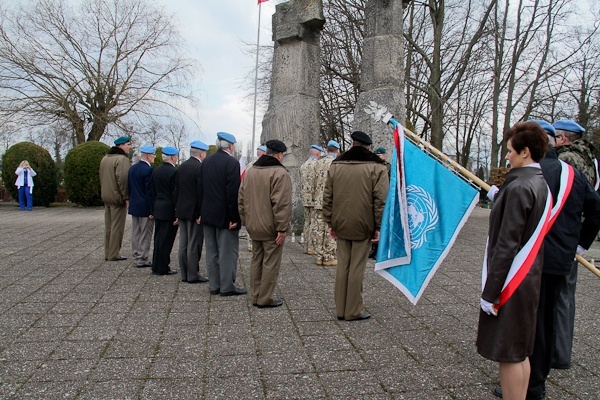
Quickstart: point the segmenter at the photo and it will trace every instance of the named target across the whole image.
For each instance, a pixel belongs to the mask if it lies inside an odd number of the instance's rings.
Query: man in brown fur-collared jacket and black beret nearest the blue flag
[[[352,147],[331,164],[323,193],[323,220],[337,240],[335,309],[339,320],[367,319],[362,282],[379,227],[389,178],[384,161],[371,152],[371,138],[352,133]]]

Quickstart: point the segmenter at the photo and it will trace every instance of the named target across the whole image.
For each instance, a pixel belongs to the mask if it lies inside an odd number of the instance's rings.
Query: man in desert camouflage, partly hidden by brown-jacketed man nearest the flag
[[[316,238],[315,252],[317,253],[317,265],[335,266],[337,265],[336,250],[337,243],[331,235],[329,235],[329,225],[323,220],[323,190],[327,181],[327,171],[333,160],[335,160],[340,152],[340,144],[335,140],[330,140],[327,143],[327,155],[315,163],[315,215],[316,225],[314,232],[311,235]],[[313,228],[311,226],[311,228]]]

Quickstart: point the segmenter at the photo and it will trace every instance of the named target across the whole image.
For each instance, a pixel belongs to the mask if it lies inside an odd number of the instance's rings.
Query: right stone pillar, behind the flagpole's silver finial
[[[368,133],[373,146],[385,147],[388,154],[393,147],[391,128],[373,121],[364,109],[374,101],[387,107],[397,121],[406,118],[402,3],[403,0],[367,1],[361,92],[354,111],[354,130]]]

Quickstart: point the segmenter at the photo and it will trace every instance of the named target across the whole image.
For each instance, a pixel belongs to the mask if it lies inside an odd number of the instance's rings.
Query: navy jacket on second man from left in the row
[[[129,214],[134,217],[152,215],[152,168],[145,161],[139,161],[129,168],[127,176],[129,191]]]

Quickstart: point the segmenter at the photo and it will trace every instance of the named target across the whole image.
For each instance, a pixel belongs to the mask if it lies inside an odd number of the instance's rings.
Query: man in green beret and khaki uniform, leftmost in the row
[[[127,175],[131,162],[131,139],[121,136],[100,161],[100,188],[104,202],[104,259],[122,261],[121,244],[129,208]]]

